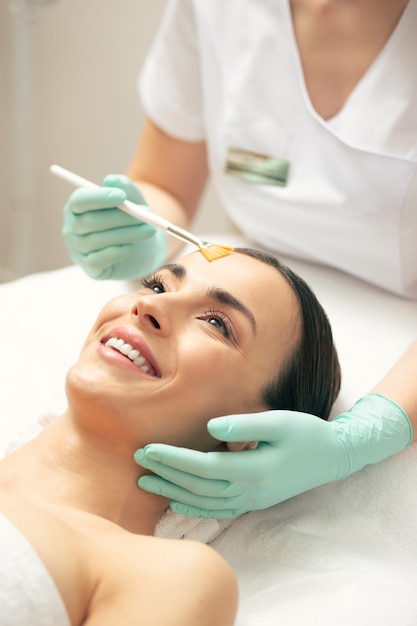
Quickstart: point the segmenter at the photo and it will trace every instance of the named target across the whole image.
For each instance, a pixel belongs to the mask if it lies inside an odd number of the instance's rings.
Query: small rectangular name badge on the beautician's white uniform
[[[285,159],[249,152],[242,148],[229,148],[225,172],[248,183],[285,187],[289,168],[290,162]]]

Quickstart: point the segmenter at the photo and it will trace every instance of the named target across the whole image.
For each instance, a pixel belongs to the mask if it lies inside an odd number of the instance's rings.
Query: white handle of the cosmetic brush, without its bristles
[[[74,174],[74,172],[66,170],[60,165],[51,165],[49,169],[52,174],[55,174],[55,176],[58,176],[59,178],[62,178],[69,183],[72,183],[75,187],[87,187],[90,189],[99,187],[99,185],[96,185],[86,178],[82,178],[82,176],[78,176],[78,174]],[[156,213],[152,213],[152,211],[150,211],[149,209],[139,204],[135,204],[134,202],[130,202],[130,200],[125,200],[123,204],[119,206],[119,209],[122,209],[122,211],[129,213],[129,215],[133,215],[133,217],[136,217],[142,222],[146,222],[151,226],[166,230],[174,237],[177,237],[177,239],[181,239],[181,241],[193,243],[199,248],[204,246],[204,243],[200,239],[198,239],[198,237],[195,237],[188,231],[179,228],[174,224],[171,224],[171,222],[168,222],[168,220],[164,219],[160,215],[157,215]]]

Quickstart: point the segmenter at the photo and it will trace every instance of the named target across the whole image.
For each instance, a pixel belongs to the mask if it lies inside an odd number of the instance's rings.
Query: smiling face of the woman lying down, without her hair
[[[103,308],[68,374],[69,403],[103,429],[128,429],[135,448],[213,449],[207,421],[265,410],[262,389],[299,332],[296,297],[275,268],[195,252]]]

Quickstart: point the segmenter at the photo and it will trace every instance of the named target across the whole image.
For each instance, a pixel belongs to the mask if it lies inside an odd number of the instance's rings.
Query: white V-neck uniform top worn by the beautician
[[[205,139],[245,236],[417,298],[417,0],[343,109],[306,90],[289,0],[171,0],[142,70],[146,114]],[[225,173],[230,147],[290,162],[287,184]]]

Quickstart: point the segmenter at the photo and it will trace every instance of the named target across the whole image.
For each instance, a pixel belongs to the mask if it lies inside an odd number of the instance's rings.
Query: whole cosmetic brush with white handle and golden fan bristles
[[[97,188],[99,185],[92,183],[91,181],[66,170],[60,165],[51,165],[49,168],[52,174],[58,176],[59,178],[63,178],[69,183],[72,183],[76,187],[88,187],[90,189]],[[207,261],[214,261],[215,259],[221,259],[222,257],[230,254],[233,251],[233,248],[230,246],[221,246],[219,244],[211,243],[209,241],[202,241],[195,235],[189,233],[188,231],[180,228],[179,226],[175,226],[168,222],[168,220],[164,219],[160,215],[156,213],[152,213],[148,208],[143,205],[135,204],[130,200],[125,200],[123,204],[119,206],[119,209],[129,213],[129,215],[133,215],[133,217],[138,218],[142,222],[146,222],[151,226],[155,226],[156,228],[161,228],[165,230],[169,235],[180,239],[184,243],[191,243],[196,246],[201,254],[207,259]]]

